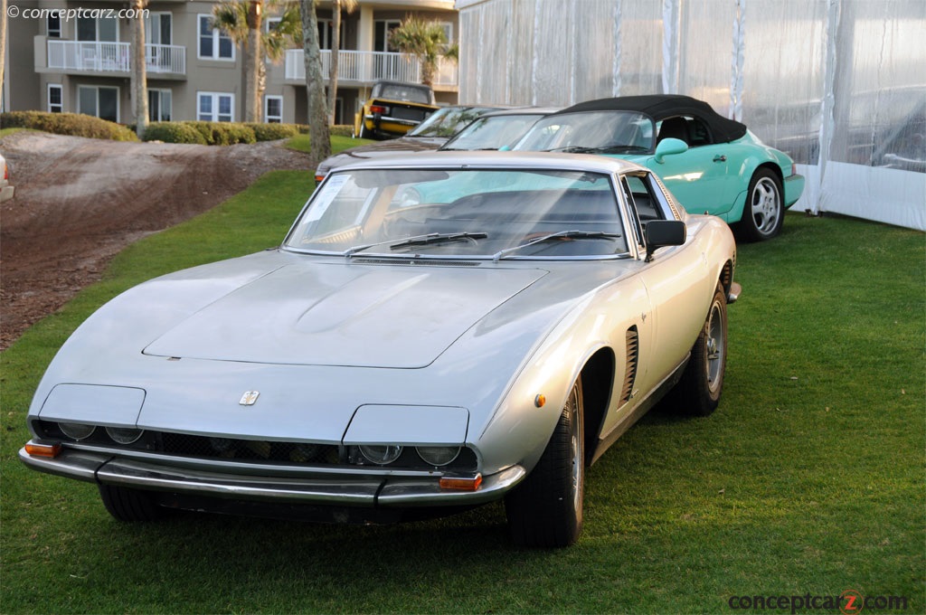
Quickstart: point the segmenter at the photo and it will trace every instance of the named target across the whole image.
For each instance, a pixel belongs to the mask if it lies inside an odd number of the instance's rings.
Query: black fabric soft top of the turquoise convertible
[[[714,143],[727,143],[739,139],[746,133],[745,124],[718,115],[717,111],[703,100],[682,94],[646,94],[643,96],[618,96],[587,100],[559,113],[581,111],[639,111],[660,121],[675,116],[688,115],[702,119],[714,135]]]

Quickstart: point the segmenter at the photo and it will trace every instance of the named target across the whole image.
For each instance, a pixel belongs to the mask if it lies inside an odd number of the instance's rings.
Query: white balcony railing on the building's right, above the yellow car
[[[420,67],[416,57],[381,51],[345,51],[338,53],[338,80],[344,82],[375,82],[389,79],[396,82],[419,82]],[[321,74],[331,73],[332,52],[321,51]],[[288,49],[285,60],[286,81],[304,82],[306,63],[302,49]],[[440,60],[434,85],[457,85],[457,66]]]

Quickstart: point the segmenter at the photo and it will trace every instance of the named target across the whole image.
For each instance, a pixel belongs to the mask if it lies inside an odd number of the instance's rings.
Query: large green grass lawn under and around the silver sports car
[[[720,408],[621,438],[568,549],[513,548],[500,505],[387,527],[123,524],[93,485],[26,470],[31,393],[69,332],[137,282],[279,244],[303,183],[270,173],[131,245],[0,355],[0,611],[731,613],[848,590],[926,611],[926,241],[859,220],[791,214],[740,247]]]

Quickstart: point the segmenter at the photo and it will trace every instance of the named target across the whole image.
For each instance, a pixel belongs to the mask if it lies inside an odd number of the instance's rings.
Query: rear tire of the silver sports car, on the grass
[[[678,383],[675,404],[687,414],[706,417],[717,409],[727,370],[727,296],[718,286],[707,320],[692,346],[692,357]]]

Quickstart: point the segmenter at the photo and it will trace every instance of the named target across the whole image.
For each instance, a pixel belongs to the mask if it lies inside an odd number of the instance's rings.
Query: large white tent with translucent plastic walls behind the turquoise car
[[[923,0],[457,0],[461,102],[706,100],[791,154],[795,209],[926,230]]]

